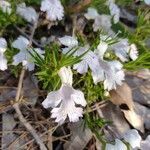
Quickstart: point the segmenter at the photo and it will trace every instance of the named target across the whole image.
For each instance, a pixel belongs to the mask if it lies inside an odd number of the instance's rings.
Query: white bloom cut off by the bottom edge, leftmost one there
[[[115,140],[115,145],[106,144],[105,150],[127,150],[127,146],[119,139]]]

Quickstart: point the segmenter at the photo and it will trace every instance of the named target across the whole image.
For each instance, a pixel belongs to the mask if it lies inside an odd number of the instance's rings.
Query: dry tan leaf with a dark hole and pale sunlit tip
[[[110,100],[115,105],[119,105],[121,111],[124,113],[124,116],[128,120],[128,122],[134,128],[143,132],[143,119],[141,116],[136,114],[134,110],[135,106],[132,99],[131,88],[126,83],[124,83],[122,86],[118,86],[116,90],[110,91],[110,96]]]

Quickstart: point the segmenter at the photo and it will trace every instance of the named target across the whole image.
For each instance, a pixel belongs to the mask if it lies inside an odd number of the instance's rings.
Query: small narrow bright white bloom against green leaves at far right
[[[129,56],[134,61],[138,58],[138,50],[135,44],[130,45]]]

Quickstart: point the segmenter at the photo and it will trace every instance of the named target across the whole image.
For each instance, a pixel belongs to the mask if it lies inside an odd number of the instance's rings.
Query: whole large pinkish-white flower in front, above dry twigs
[[[44,108],[53,108],[51,117],[56,118],[55,121],[59,124],[64,123],[67,117],[70,122],[77,122],[82,117],[83,108],[75,105],[86,106],[84,94],[72,87],[73,74],[70,67],[62,67],[59,76],[62,81],[61,88],[50,92],[42,105]]]

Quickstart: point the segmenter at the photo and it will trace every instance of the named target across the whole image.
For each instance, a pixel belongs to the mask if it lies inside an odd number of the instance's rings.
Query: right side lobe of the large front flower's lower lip
[[[79,105],[82,105],[82,106],[86,106],[87,102],[84,98],[84,94],[83,92],[79,91],[79,90],[73,90],[73,94],[71,94],[71,99],[76,103],[76,104],[79,104]]]

